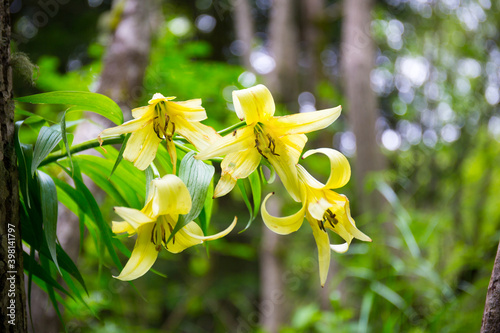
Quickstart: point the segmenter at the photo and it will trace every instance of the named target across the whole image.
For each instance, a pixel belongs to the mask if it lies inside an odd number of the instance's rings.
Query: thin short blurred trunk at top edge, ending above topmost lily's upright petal
[[[252,53],[254,27],[252,20],[252,8],[249,0],[232,0],[233,1],[233,19],[236,38],[241,41],[243,47],[242,55],[240,56],[241,64],[247,70],[252,70],[250,63],[250,54]]]

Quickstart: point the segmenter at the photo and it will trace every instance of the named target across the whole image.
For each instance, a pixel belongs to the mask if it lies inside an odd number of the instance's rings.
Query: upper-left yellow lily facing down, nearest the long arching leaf
[[[220,135],[212,127],[200,123],[207,118],[201,99],[184,102],[173,102],[173,99],[175,97],[154,94],[149,105],[132,110],[133,120],[105,129],[99,134],[99,140],[103,136],[132,133],[123,158],[133,162],[139,170],[145,170],[153,162],[158,145],[166,140],[175,173],[177,152],[172,140],[175,133],[185,137],[198,150],[208,147]]]

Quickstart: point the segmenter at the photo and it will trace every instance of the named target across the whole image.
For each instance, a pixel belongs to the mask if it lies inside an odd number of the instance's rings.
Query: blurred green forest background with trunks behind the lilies
[[[373,239],[333,253],[321,288],[309,227],[277,236],[257,219],[209,251],[163,251],[154,268],[167,278],[148,273],[132,286],[112,278],[109,258],[61,210],[59,242],[85,278],[88,307],[67,299],[61,323],[34,290],[36,331],[479,331],[500,238],[499,9],[498,0],[13,1],[17,97],[100,92],[126,117],[155,92],[201,97],[217,130],[238,121],[231,92],[257,83],[278,115],[341,104],[306,149],[349,158],[353,176],[339,192]],[[75,123],[75,140],[96,122]],[[326,158],[313,159],[303,163],[325,179]],[[276,197],[276,213],[298,208],[284,190]],[[111,221],[116,202],[99,200]],[[237,189],[215,207],[214,229],[235,215],[243,229]]]

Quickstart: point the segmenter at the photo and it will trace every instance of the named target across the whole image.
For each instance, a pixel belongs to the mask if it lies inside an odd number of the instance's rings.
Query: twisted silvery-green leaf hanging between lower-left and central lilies
[[[189,152],[184,156],[179,169],[179,178],[186,184],[186,187],[191,195],[191,210],[185,215],[179,216],[179,221],[175,225],[174,230],[167,240],[170,242],[175,233],[179,231],[186,223],[193,221],[200,215],[205,198],[207,196],[208,187],[215,173],[215,168],[205,164],[194,158],[195,152]]]

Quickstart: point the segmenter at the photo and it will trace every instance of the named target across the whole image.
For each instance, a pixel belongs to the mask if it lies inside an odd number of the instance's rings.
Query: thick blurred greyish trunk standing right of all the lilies
[[[375,62],[375,45],[370,33],[373,4],[373,0],[344,0],[341,42],[346,110],[356,136],[356,192],[365,212],[380,211],[383,202],[380,195],[365,194],[366,176],[383,170],[386,165],[377,144],[377,98],[370,87],[370,72]]]

